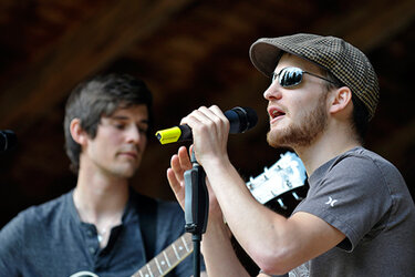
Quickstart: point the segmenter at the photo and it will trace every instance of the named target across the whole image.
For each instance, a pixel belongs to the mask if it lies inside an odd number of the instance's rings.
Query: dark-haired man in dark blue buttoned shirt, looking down
[[[184,233],[177,203],[128,185],[152,130],[152,94],[131,75],[96,76],[69,96],[65,148],[76,187],[0,232],[1,276],[132,276]],[[190,276],[191,259],[170,276]]]

